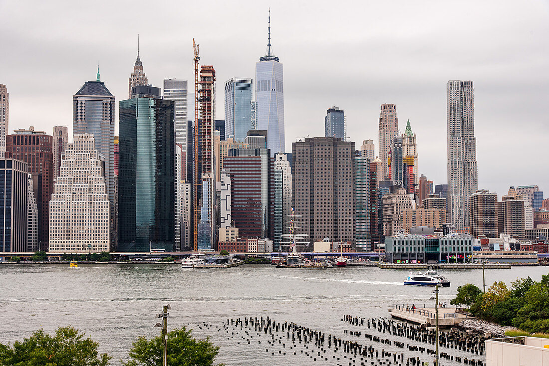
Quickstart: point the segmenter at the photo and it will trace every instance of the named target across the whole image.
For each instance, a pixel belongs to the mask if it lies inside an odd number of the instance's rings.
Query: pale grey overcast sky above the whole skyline
[[[287,151],[296,137],[323,136],[337,105],[356,148],[373,139],[377,153],[380,104],[394,103],[401,131],[410,119],[417,133],[419,173],[446,183],[446,82],[472,80],[479,188],[538,184],[549,196],[547,1],[0,0],[10,131],[66,125],[71,136],[72,95],[98,63],[117,102],[127,99],[138,33],[149,83],[184,78],[191,90],[194,37],[201,64],[216,69],[224,119],[224,82],[254,78],[265,54],[268,7]]]

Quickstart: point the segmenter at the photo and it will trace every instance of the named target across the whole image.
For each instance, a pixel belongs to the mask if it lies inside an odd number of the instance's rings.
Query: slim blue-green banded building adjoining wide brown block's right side
[[[370,237],[370,160],[355,157],[355,235],[356,248],[367,252],[372,247]]]

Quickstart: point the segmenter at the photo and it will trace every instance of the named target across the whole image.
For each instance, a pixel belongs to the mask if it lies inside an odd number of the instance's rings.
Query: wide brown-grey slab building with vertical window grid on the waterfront
[[[335,137],[292,144],[293,193],[299,234],[310,243],[355,243],[355,143]]]

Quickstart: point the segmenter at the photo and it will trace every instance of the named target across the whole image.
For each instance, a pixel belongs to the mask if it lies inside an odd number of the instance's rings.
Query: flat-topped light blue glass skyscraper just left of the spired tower
[[[230,78],[225,82],[225,134],[234,141],[243,142],[252,125],[251,94],[253,81]]]

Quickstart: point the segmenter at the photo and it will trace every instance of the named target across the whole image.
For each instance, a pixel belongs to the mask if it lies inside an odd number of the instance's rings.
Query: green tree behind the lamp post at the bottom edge
[[[219,347],[206,339],[195,339],[192,330],[184,326],[168,334],[168,366],[210,366],[214,364]],[[130,350],[131,361],[122,362],[125,366],[162,366],[162,335],[147,341],[141,336],[133,342]],[[221,364],[220,364],[221,365]]]

